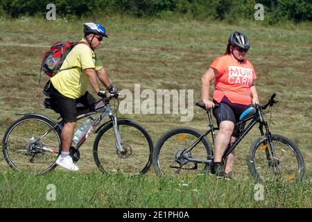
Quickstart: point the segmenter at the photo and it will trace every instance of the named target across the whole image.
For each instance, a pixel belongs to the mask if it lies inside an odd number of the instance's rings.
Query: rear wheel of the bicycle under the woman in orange
[[[196,142],[202,133],[193,128],[175,128],[165,133],[157,142],[153,153],[153,166],[159,176],[191,176],[207,173],[210,164],[198,164],[187,160],[211,160],[211,144],[203,137],[192,151],[184,151]]]

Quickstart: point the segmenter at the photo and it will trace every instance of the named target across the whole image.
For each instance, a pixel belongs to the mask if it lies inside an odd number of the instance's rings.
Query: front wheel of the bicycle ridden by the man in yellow
[[[96,136],[94,161],[103,173],[144,174],[150,168],[153,141],[146,130],[132,121],[118,120],[119,135],[124,152],[116,146],[113,124],[104,126]]]

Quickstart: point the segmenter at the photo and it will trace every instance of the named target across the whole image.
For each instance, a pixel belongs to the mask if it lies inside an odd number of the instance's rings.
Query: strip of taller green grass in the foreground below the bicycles
[[[267,183],[263,198],[249,178],[228,181],[202,175],[128,178],[98,171],[49,176],[1,171],[0,182],[0,207],[311,207],[307,182]]]

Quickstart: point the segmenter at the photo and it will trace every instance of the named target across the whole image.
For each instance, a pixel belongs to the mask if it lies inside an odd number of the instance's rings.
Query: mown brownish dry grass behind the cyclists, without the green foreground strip
[[[39,65],[44,51],[53,42],[79,40],[83,22],[30,18],[1,20],[1,138],[10,123],[17,119],[15,113],[40,112],[54,119],[58,117],[43,108],[42,85],[38,85]],[[272,111],[271,131],[297,143],[304,155],[306,173],[311,175],[311,25],[276,28],[263,27],[257,22],[243,26],[129,18],[98,19],[96,22],[105,24],[110,35],[98,49],[98,55],[114,85],[132,91],[135,84],[140,84],[141,90],[193,89],[194,102],[200,100],[202,74],[216,56],[224,53],[229,34],[235,30],[247,33],[252,44],[248,58],[257,72],[260,101],[265,103],[272,92],[277,92],[279,100]],[[141,123],[154,143],[175,126],[200,130],[207,127],[205,113],[196,107],[190,122],[182,122],[180,115],[170,114],[119,114],[119,117],[130,117]],[[254,128],[239,146],[235,173],[248,173],[245,157],[257,136],[257,128]],[[78,162],[82,171],[95,168],[95,164],[90,164],[93,162],[90,150],[93,138],[82,147]],[[0,158],[1,167],[6,166],[3,157]]]

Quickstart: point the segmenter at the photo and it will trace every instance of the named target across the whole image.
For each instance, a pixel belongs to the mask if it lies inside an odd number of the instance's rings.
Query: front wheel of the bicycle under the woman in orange
[[[304,176],[299,148],[281,135],[272,135],[272,147],[266,137],[257,139],[250,148],[248,167],[258,181],[298,182]]]

